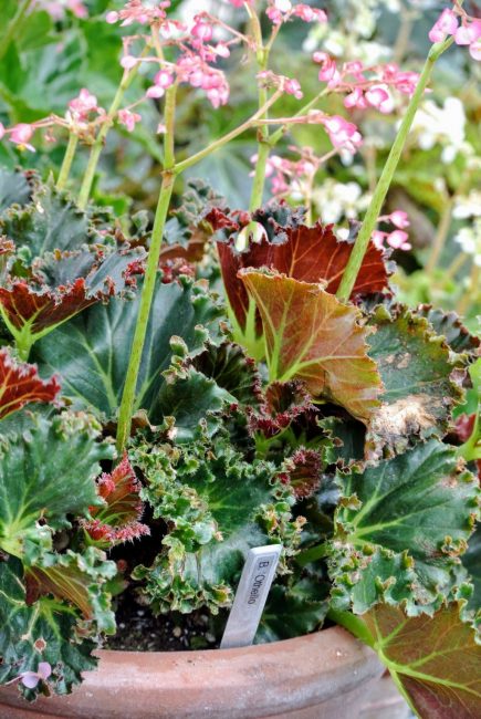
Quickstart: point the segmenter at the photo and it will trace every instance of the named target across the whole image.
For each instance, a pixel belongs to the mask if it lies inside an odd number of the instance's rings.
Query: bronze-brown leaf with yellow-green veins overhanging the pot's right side
[[[407,617],[380,604],[363,615],[374,648],[424,719],[481,716],[481,646],[454,604],[433,617]]]

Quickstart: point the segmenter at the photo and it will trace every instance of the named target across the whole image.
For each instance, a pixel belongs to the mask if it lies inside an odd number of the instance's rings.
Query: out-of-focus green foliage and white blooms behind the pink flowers
[[[14,23],[19,0],[2,0],[0,20],[0,122],[12,125],[32,122],[50,113],[63,115],[67,102],[81,87],[94,93],[100,105],[108,107],[121,80],[122,37],[132,28],[105,22],[105,12],[123,6],[116,0],[85,0],[88,17],[81,19],[66,11],[53,20],[41,2]],[[430,0],[327,0],[311,2],[323,8],[328,25],[299,22],[283,28],[273,53],[273,70],[297,77],[304,97],[320,91],[317,69],[311,56],[325,50],[339,61],[363,60],[366,64],[396,62],[402,69],[419,71],[429,49],[428,31],[446,7]],[[477,2],[468,2],[471,14],[480,13]],[[468,7],[469,6],[469,7]],[[200,10],[221,13],[231,24],[245,14],[218,1],[175,0],[172,13],[191,17]],[[200,149],[239,125],[255,112],[255,66],[252,58],[239,52],[222,61],[231,85],[229,104],[212,107],[202,94],[181,86],[177,113],[178,158]],[[128,91],[126,103],[142,97],[150,84],[153,70],[140,71]],[[470,61],[462,48],[453,46],[438,63],[433,92],[415,123],[408,146],[388,198],[388,210],[406,210],[411,226],[412,250],[397,251],[395,284],[409,304],[432,302],[464,315],[471,330],[478,329],[481,304],[481,94],[479,63]],[[320,107],[328,113],[347,114],[342,98],[332,95]],[[316,176],[314,217],[346,225],[362,218],[406,106],[397,98],[395,113],[355,111],[353,121],[365,138],[362,152],[353,159],[333,157]],[[299,108],[292,96],[276,106],[285,116]],[[143,122],[128,134],[116,127],[109,133],[94,189],[100,205],[111,205],[118,213],[151,210],[157,200],[163,158],[161,104],[150,100],[138,108]],[[20,152],[13,144],[0,143],[0,164],[35,167],[44,176],[57,171],[66,137],[59,134],[35,143],[35,154]],[[311,147],[322,155],[330,149],[324,131],[316,125],[295,126],[276,154],[296,157],[293,146]],[[245,134],[190,170],[221,192],[232,208],[245,208],[250,192],[251,156],[254,133]],[[87,149],[77,153],[73,168],[81,178]],[[186,174],[184,181],[189,175]],[[178,183],[176,201],[182,186]],[[295,196],[292,198],[295,201]]]

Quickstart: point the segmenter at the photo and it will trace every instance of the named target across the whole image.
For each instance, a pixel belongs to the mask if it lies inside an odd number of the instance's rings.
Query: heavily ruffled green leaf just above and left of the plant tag
[[[250,548],[279,542],[289,555],[299,542],[292,491],[272,463],[245,461],[226,435],[213,444],[144,444],[134,463],[146,478],[143,498],[169,528],[153,566],[135,572],[156,612],[217,613],[230,604]]]

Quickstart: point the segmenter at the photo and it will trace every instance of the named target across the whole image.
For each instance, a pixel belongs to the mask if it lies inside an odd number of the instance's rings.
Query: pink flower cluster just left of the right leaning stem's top
[[[418,73],[402,72],[395,63],[366,67],[354,61],[338,66],[326,52],[315,52],[313,60],[321,65],[318,79],[327,83],[328,90],[347,93],[344,105],[348,108],[376,107],[381,113],[391,113],[395,103],[390,90],[410,96],[419,80]]]

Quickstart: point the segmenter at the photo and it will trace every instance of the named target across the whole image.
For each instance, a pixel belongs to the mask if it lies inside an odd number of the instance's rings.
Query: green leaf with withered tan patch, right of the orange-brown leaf
[[[424,317],[396,308],[378,308],[367,338],[384,384],[381,406],[367,436],[373,457],[402,451],[419,438],[443,436],[452,407],[462,398],[462,361],[452,357]]]

